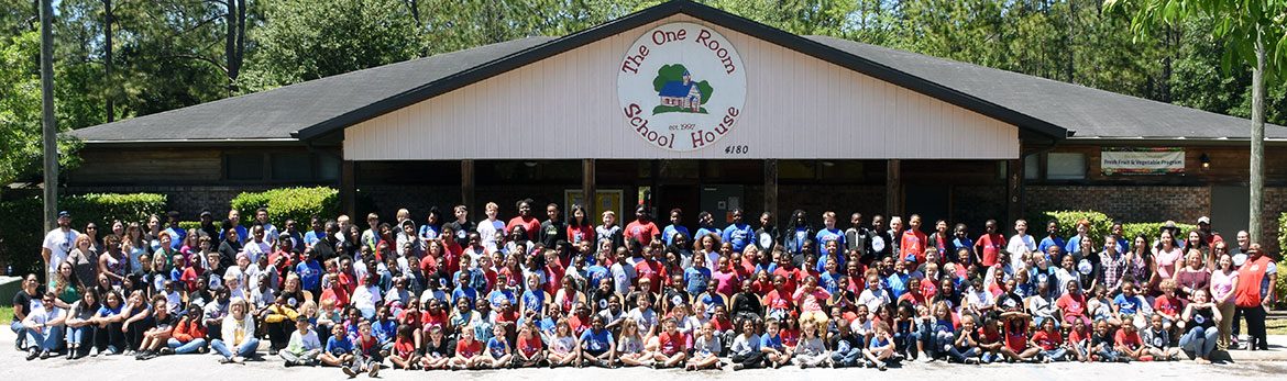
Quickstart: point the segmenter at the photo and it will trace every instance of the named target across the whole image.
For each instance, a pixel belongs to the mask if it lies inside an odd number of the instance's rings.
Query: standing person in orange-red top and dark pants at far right
[[[1238,268],[1234,304],[1247,318],[1247,349],[1269,350],[1265,340],[1265,314],[1274,303],[1273,285],[1278,280],[1278,267],[1264,255],[1260,244],[1251,244],[1247,262]]]

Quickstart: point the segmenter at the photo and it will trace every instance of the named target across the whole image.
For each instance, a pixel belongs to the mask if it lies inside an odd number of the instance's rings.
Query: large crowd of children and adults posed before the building
[[[1238,232],[1198,228],[1091,236],[1089,222],[1042,236],[1015,221],[794,210],[779,226],[731,210],[717,227],[650,208],[619,224],[579,205],[546,218],[532,200],[501,218],[488,203],[391,223],[251,223],[198,228],[179,213],[72,228],[58,216],[41,250],[46,282],[14,296],[28,360],[212,353],[281,358],[354,377],[381,368],[870,367],[906,362],[1207,363],[1216,349],[1266,349],[1277,267]],[[663,210],[664,213],[665,210]],[[598,221],[592,221],[593,218]],[[166,221],[162,221],[166,219]],[[449,219],[449,221],[448,221]],[[821,222],[821,224],[815,224]],[[300,226],[308,223],[308,226]],[[927,231],[928,230],[928,231]],[[1239,341],[1239,321],[1247,339]],[[206,354],[210,355],[210,354]]]

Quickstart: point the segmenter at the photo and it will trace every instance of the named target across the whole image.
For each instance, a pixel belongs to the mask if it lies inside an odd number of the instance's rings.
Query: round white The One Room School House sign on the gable
[[[732,132],[746,103],[746,71],[719,32],[668,23],[625,51],[616,96],[631,133],[653,146],[690,151]]]

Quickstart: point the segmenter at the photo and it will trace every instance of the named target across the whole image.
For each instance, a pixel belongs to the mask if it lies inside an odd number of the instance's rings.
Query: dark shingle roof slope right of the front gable
[[[1241,139],[1243,118],[826,36],[807,38],[1072,131],[1072,139]],[[1269,124],[1269,139],[1287,128]]]

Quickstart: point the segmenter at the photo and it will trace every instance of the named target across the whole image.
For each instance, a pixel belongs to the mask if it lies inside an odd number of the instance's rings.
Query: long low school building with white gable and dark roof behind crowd
[[[1246,119],[798,36],[690,1],[73,135],[86,145],[68,191],[162,192],[185,218],[224,213],[241,191],[313,185],[340,189],[350,214],[408,208],[418,221],[459,203],[474,218],[486,201],[514,216],[532,198],[627,216],[646,201],[690,224],[741,208],[978,230],[1097,209],[1211,216],[1230,235],[1248,209]],[[1287,128],[1268,126],[1266,140],[1275,217]]]

